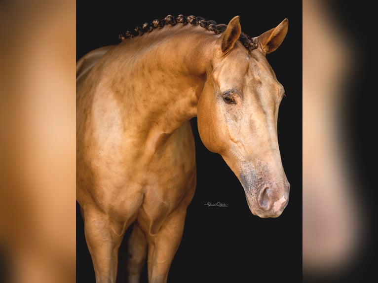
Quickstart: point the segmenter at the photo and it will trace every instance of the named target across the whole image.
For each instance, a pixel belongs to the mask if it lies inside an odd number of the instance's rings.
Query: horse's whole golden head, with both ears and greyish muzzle
[[[254,215],[278,217],[289,200],[277,138],[278,108],[284,88],[266,60],[286,36],[288,20],[252,38],[239,39],[235,16],[217,39],[198,100],[197,124],[203,144],[219,153],[241,182]]]

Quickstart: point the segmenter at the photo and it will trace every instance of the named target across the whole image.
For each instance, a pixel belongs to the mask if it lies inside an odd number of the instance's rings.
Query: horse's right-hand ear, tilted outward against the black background
[[[260,42],[265,54],[275,51],[284,40],[289,27],[289,20],[284,19],[277,27],[265,32],[264,34],[255,37]]]

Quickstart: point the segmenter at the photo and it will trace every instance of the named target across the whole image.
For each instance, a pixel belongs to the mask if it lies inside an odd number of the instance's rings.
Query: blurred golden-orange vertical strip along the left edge
[[[75,282],[76,1],[0,2],[1,282]]]

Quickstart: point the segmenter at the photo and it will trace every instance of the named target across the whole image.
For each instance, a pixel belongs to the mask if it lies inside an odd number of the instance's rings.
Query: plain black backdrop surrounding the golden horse
[[[77,1],[76,4],[76,60],[97,47],[119,43],[120,33],[168,14],[202,16],[225,24],[239,15],[242,31],[250,36],[260,35],[284,18],[289,19],[289,31],[282,45],[267,55],[286,91],[278,116],[278,141],[291,183],[289,204],[278,218],[254,216],[238,179],[222,157],[208,151],[200,141],[193,118],[197,188],[168,283],[302,281],[302,1],[291,1],[290,5],[284,1],[245,3],[248,5],[237,1],[227,5],[217,1],[169,4]],[[228,207],[204,206],[218,201]],[[127,282],[125,251],[122,245],[119,282]],[[146,268],[143,282],[147,282]],[[95,282],[77,203],[76,282]]]

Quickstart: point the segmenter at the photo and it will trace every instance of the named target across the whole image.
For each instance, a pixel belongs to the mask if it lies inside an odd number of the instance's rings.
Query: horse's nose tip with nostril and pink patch
[[[273,185],[265,185],[260,191],[257,203],[261,210],[265,211],[268,217],[279,216],[289,201],[290,184],[286,184],[284,189]]]

